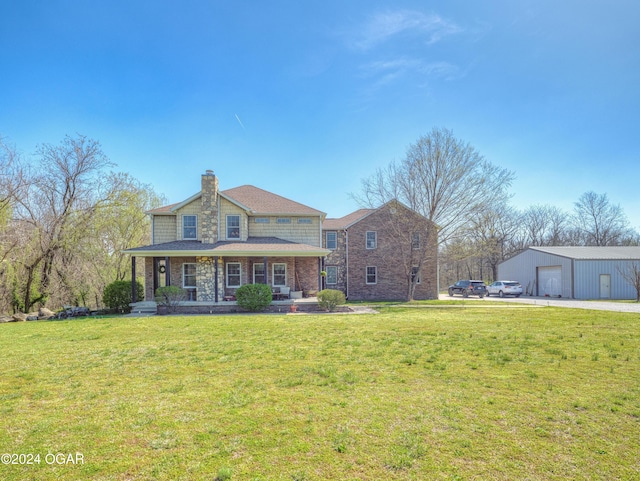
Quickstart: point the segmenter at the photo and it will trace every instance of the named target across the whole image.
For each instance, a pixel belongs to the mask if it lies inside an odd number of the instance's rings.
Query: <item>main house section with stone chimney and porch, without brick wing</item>
[[[254,186],[220,191],[207,171],[201,191],[154,209],[151,244],[129,249],[145,262],[145,300],[177,285],[189,300],[219,302],[243,284],[317,290],[325,213]]]

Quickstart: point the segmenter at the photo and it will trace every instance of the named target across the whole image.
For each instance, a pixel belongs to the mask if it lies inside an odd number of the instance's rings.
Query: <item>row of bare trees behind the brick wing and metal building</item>
[[[529,246],[640,245],[607,194],[585,192],[570,212],[549,204],[518,210],[510,204],[513,179],[450,130],[434,128],[353,197],[365,207],[397,199],[438,226],[441,286],[496,280],[498,264]]]

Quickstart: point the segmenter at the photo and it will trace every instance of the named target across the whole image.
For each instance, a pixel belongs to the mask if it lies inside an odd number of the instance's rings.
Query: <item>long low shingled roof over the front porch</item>
[[[317,246],[298,244],[277,237],[250,237],[246,242],[174,241],[127,249],[135,257],[324,257],[331,251]]]

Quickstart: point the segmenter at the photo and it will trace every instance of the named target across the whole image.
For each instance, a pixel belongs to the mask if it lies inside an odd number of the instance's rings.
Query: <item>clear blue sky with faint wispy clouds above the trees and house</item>
[[[607,193],[640,228],[640,2],[0,0],[0,135],[80,133],[169,202],[253,184],[327,212],[433,127],[512,204]]]

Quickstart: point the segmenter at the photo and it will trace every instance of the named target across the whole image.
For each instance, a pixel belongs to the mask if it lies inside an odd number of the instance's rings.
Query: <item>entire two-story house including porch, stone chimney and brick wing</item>
[[[176,285],[189,300],[218,303],[257,283],[339,289],[351,300],[437,298],[437,231],[398,202],[326,219],[254,186],[220,191],[207,171],[200,192],[148,214],[151,244],[126,251],[134,278],[144,261],[145,300]]]

